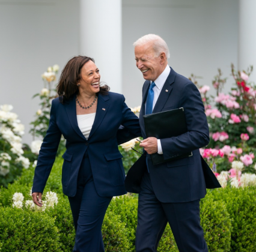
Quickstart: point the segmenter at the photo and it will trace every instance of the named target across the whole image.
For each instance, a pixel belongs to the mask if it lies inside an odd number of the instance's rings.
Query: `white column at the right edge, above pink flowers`
[[[239,70],[249,65],[254,71],[249,80],[256,82],[256,0],[239,1]]]

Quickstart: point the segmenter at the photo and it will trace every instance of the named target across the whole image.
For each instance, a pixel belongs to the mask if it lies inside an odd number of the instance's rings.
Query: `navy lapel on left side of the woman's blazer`
[[[78,133],[82,139],[86,140],[84,134],[81,132],[80,128],[78,127],[78,118],[76,117],[76,98],[75,95],[70,98],[70,100],[65,104],[67,116],[69,118],[70,124],[72,125],[73,129]]]

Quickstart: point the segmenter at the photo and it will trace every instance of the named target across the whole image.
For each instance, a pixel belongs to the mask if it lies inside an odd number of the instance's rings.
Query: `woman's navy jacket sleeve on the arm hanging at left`
[[[46,136],[43,139],[43,143],[41,145],[41,149],[38,155],[37,167],[35,167],[32,193],[43,193],[46,181],[50,175],[50,170],[52,170],[52,166],[55,161],[60,139],[61,131],[56,125],[56,112],[54,103],[52,101],[52,107],[50,109],[49,128],[47,130]]]

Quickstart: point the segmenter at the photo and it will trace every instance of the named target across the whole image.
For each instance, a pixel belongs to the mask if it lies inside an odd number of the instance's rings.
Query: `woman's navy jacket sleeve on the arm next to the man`
[[[127,107],[124,102],[124,95],[121,97],[121,109],[122,109],[122,119],[120,128],[117,131],[117,142],[118,145],[121,143],[128,142],[135,137],[141,136],[141,127],[139,126],[139,118],[135,113]]]

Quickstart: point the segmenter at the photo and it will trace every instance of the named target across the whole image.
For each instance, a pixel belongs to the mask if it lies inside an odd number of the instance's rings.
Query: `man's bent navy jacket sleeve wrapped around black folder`
[[[164,159],[173,154],[194,151],[209,143],[209,127],[204,105],[194,83],[184,85],[178,107],[184,108],[187,132],[177,137],[160,139]]]

